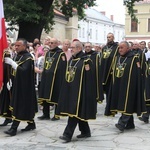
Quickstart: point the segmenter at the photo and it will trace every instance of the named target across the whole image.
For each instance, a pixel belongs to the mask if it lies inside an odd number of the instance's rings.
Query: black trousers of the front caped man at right
[[[134,125],[133,115],[122,114],[122,116],[118,120],[118,124],[120,124],[124,128],[126,126],[130,126],[130,125],[132,126],[132,125]]]

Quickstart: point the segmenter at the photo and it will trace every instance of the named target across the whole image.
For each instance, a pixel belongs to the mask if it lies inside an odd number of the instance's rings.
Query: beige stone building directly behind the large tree
[[[43,31],[41,40],[46,36],[55,37],[60,41],[64,39],[73,40],[78,37],[78,16],[76,14],[67,19],[61,12],[55,10],[54,21],[53,30],[49,34]]]

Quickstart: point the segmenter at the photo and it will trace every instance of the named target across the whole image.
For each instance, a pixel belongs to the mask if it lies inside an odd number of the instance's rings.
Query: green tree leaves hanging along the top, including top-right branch
[[[53,0],[51,0],[52,2]],[[125,0],[131,18],[137,20],[134,14],[134,3],[139,0]],[[85,17],[84,8],[95,6],[95,0],[4,0],[5,18],[11,25],[19,25],[22,22],[43,25],[46,32],[49,32],[54,25],[54,11],[58,9],[67,17],[72,17],[75,12],[79,19]],[[45,9],[46,8],[46,9]]]

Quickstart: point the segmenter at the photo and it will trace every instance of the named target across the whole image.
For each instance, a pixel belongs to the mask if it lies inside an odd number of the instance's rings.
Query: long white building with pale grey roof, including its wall
[[[85,14],[86,19],[78,22],[78,39],[80,41],[105,44],[109,32],[114,33],[115,41],[124,40],[124,25],[114,23],[112,15],[109,19],[105,16],[105,12],[99,12],[91,8],[86,9]]]

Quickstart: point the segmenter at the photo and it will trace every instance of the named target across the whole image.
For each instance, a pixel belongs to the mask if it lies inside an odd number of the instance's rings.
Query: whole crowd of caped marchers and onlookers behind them
[[[78,39],[63,42],[46,37],[43,43],[19,38],[8,40],[4,51],[4,82],[0,93],[0,126],[17,134],[21,121],[27,122],[22,132],[36,129],[34,121],[38,105],[39,120],[58,121],[68,116],[60,139],[70,142],[76,126],[77,138],[91,137],[88,120],[96,119],[97,104],[106,94],[104,115],[121,116],[115,124],[121,132],[134,129],[133,114],[149,122],[150,114],[150,42],[114,41],[108,33],[103,46],[82,43]],[[54,108],[54,116],[50,116]]]

